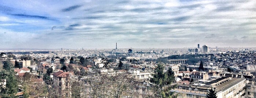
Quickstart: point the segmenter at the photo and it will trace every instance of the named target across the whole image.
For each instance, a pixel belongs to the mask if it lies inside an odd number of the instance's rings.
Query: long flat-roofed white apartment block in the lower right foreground
[[[216,91],[217,98],[245,98],[246,79],[222,77],[207,83],[178,84],[171,90],[178,98],[207,98],[210,89]]]

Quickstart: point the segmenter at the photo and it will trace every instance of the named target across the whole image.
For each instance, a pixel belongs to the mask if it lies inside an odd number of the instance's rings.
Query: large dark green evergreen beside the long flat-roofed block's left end
[[[164,65],[157,65],[157,68],[154,71],[155,74],[153,74],[153,78],[150,79],[150,82],[155,84],[153,85],[153,87],[155,87],[155,97],[177,97],[173,93],[170,93],[170,90],[175,88],[175,86],[171,85],[171,82],[174,80],[174,72],[171,68],[169,68],[167,72],[164,72],[163,70]]]

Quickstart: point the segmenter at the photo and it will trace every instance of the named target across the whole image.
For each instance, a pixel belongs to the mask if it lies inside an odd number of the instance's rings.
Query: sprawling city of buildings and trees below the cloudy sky
[[[256,98],[256,48],[0,52],[0,98]]]

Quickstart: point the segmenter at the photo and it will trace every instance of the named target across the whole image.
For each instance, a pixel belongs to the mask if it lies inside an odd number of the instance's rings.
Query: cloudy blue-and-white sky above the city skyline
[[[0,0],[0,49],[256,46],[256,0]]]

